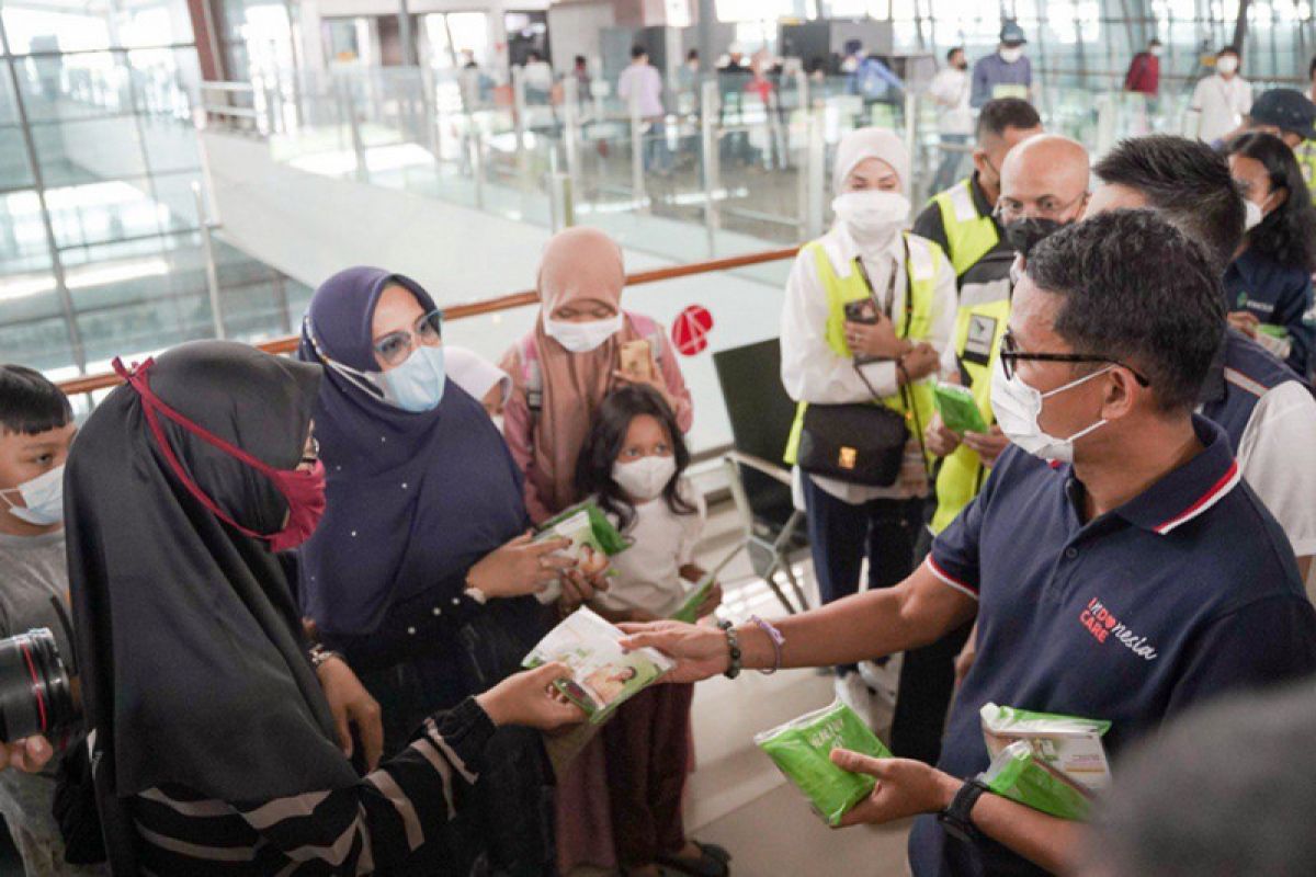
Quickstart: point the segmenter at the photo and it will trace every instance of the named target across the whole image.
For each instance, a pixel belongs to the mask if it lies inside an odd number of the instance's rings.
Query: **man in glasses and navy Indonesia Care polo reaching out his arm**
[[[966,782],[988,765],[984,703],[1107,719],[1117,756],[1192,703],[1316,672],[1292,550],[1224,433],[1192,413],[1223,320],[1219,271],[1152,212],[1055,233],[1015,289],[994,376],[1015,446],[919,571],[783,621],[780,643],[755,619],[632,626],[625,644],[666,651],[691,681],[900,651],[976,611],[938,768],[833,753],[879,778],[846,823],[920,815],[919,877],[1059,870],[1080,826]]]

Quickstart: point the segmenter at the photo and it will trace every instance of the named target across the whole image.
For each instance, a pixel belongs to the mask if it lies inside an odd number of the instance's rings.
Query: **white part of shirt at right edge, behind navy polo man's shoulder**
[[[1316,555],[1316,400],[1299,381],[1267,391],[1238,442],[1242,477],[1299,557]]]

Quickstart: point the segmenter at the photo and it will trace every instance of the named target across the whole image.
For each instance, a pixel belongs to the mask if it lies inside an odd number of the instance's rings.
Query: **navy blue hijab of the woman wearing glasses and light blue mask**
[[[311,298],[299,356],[378,372],[371,323],[390,285],[411,291],[426,313],[437,306],[408,277],[341,271]],[[375,631],[401,601],[458,598],[475,561],[528,526],[507,443],[453,381],[438,408],[411,413],[326,367],[315,434],[329,508],[301,548],[300,579],[304,610],[328,642]]]

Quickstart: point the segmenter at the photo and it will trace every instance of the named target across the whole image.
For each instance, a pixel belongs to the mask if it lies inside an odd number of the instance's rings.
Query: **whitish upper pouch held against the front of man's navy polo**
[[[1054,713],[1032,713],[1009,706],[983,705],[983,740],[995,759],[1016,742],[1026,743],[1033,755],[1069,780],[1094,792],[1111,785],[1111,765],[1101,736],[1111,723]]]

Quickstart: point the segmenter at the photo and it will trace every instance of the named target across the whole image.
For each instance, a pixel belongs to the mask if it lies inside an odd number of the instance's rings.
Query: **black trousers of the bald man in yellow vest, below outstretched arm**
[[[919,563],[932,551],[932,533],[920,527],[915,550]],[[969,640],[974,623],[958,627],[936,643],[905,652],[900,667],[900,697],[891,721],[891,751],[901,759],[936,764],[946,711],[955,693],[955,657]]]

